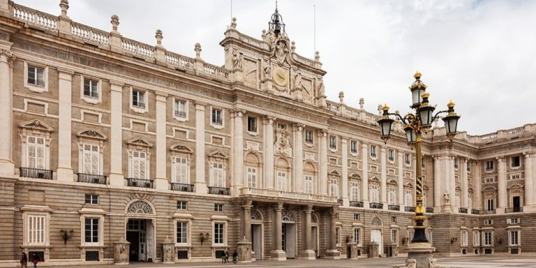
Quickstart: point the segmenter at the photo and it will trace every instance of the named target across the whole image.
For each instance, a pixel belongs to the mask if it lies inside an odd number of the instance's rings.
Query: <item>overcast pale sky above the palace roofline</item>
[[[59,0],[15,0],[59,15]],[[231,8],[232,3],[232,8]],[[316,42],[314,8],[316,6]],[[260,39],[274,13],[275,1],[71,0],[70,18],[155,45],[163,31],[167,50],[223,65],[218,43],[237,17],[237,29]],[[296,51],[313,58],[320,51],[326,94],[377,113],[409,112],[408,87],[416,70],[429,87],[430,102],[445,110],[449,100],[461,114],[459,131],[492,133],[536,122],[536,1],[311,1],[279,0],[278,9]]]

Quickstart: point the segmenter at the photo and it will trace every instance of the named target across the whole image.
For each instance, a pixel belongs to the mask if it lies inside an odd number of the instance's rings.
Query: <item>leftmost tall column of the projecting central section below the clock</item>
[[[238,196],[241,186],[244,186],[244,110],[234,110],[234,135],[232,137],[231,195]],[[248,240],[251,241],[251,240]]]

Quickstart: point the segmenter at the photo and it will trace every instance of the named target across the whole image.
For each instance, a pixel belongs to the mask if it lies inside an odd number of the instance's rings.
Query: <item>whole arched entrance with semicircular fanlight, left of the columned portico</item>
[[[126,206],[125,237],[131,243],[131,262],[152,262],[156,253],[156,212],[147,200],[132,200]]]

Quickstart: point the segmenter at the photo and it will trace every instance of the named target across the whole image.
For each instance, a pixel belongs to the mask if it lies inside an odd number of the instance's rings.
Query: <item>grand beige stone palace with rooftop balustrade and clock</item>
[[[0,267],[219,258],[404,255],[415,154],[378,112],[327,101],[318,52],[295,53],[274,13],[260,39],[232,20],[225,64],[0,1]],[[283,27],[281,27],[283,26]],[[126,26],[128,27],[128,26]],[[408,84],[410,84],[408,80]],[[453,142],[425,136],[436,254],[536,253],[536,124]],[[352,251],[352,247],[355,250]],[[359,260],[356,260],[359,262]]]

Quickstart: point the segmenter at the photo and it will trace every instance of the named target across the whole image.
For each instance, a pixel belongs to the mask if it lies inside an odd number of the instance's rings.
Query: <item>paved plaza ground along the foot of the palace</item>
[[[378,259],[359,259],[359,260],[287,260],[285,262],[274,261],[257,261],[247,264],[233,265],[232,262],[187,262],[178,263],[173,265],[164,264],[152,264],[144,262],[134,262],[126,267],[136,268],[152,268],[152,267],[196,267],[196,268],[211,268],[211,267],[306,267],[306,268],[329,268],[329,267],[393,267],[397,265],[403,265],[405,258],[378,258]],[[464,268],[499,268],[499,267],[535,267],[536,261],[533,257],[451,257],[451,258],[438,258],[438,265],[440,267],[464,267]],[[91,268],[112,268],[117,265],[91,265],[87,266]]]

